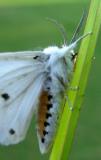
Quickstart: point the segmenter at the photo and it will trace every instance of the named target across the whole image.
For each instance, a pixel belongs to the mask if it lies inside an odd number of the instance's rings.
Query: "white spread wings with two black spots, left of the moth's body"
[[[0,54],[0,143],[9,145],[24,139],[45,75],[43,63],[33,62],[33,55],[20,59],[19,54],[16,59],[13,53],[4,54]]]

